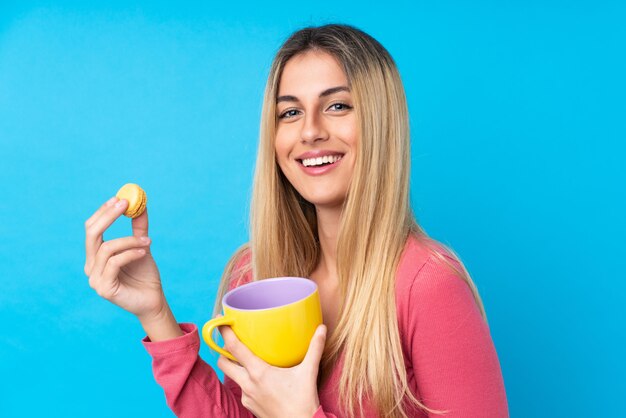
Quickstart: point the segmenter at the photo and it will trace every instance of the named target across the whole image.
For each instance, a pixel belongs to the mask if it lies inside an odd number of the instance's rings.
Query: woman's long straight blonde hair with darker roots
[[[407,417],[414,407],[430,412],[411,392],[395,305],[395,275],[409,235],[430,248],[471,288],[476,287],[454,252],[456,267],[419,227],[409,203],[409,120],[395,62],[374,38],[348,25],[307,27],[293,33],[272,63],[265,88],[260,143],[250,211],[250,243],[229,262],[216,299],[228,288],[243,251],[251,254],[254,280],[308,277],[320,260],[315,207],[282,174],[275,158],[276,97],[286,62],[309,50],[334,56],[348,79],[361,133],[353,178],[344,202],[337,244],[342,302],[329,334],[320,376],[343,356],[339,382],[346,415],[363,413],[369,398],[380,416]],[[358,330],[358,332],[355,332]]]

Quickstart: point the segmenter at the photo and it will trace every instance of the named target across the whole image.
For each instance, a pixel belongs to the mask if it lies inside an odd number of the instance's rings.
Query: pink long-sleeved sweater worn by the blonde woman
[[[244,262],[248,260],[244,257]],[[250,279],[244,276],[236,285]],[[398,265],[396,306],[411,390],[426,406],[449,411],[433,417],[508,417],[498,356],[469,287],[413,237]],[[197,327],[180,327],[185,332],[181,337],[143,340],[169,407],[179,417],[252,417],[241,404],[237,384],[228,377],[222,384],[198,356]],[[318,389],[320,407],[314,418],[341,416],[337,390],[341,367],[340,360]],[[364,405],[366,417],[377,416],[367,401]],[[413,416],[430,415],[416,411]]]

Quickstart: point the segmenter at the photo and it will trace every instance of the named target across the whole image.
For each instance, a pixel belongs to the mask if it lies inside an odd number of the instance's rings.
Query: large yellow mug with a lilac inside
[[[208,321],[202,337],[213,350],[237,361],[213,340],[213,330],[229,325],[237,338],[266,363],[293,367],[302,362],[322,307],[314,281],[302,277],[263,279],[239,286],[222,298],[224,316]]]

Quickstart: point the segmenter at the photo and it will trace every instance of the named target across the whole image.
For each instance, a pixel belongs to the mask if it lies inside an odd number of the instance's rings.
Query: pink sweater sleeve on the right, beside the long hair
[[[446,418],[508,417],[498,356],[467,283],[430,257],[410,300],[411,361],[423,403],[448,411]]]

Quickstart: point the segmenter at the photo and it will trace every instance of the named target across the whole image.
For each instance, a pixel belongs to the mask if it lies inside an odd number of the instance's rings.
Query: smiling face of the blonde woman
[[[348,80],[326,52],[292,57],[276,99],[276,159],[293,187],[320,207],[340,206],[354,170],[358,126]]]

